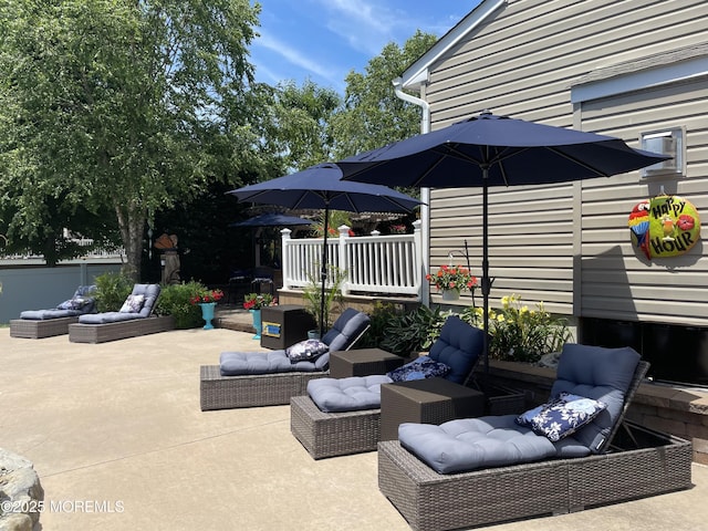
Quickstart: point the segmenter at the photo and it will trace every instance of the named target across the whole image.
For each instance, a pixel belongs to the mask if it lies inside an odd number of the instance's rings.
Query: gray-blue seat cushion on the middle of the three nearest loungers
[[[317,378],[308,382],[308,394],[325,413],[375,409],[381,407],[381,385],[391,383],[385,375]]]

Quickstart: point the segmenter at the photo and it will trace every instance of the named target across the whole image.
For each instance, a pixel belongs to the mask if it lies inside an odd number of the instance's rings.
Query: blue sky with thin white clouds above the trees
[[[389,42],[417,29],[438,38],[480,0],[260,0],[261,37],[251,44],[259,82],[275,85],[311,79],[344,93],[344,79],[364,72]]]

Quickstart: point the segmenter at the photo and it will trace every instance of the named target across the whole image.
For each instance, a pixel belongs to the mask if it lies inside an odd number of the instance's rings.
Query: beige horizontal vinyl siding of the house
[[[659,194],[662,186],[699,212],[708,211],[708,76],[699,73],[659,86],[624,81],[675,64],[673,50],[693,50],[701,58],[706,43],[702,1],[519,0],[506,2],[428,65],[421,95],[430,104],[433,129],[485,108],[620,136],[633,147],[639,147],[642,133],[686,128],[685,177],[643,179],[635,171],[491,189],[492,305],[513,292],[527,304],[544,301],[569,315],[708,324],[708,229],[689,254],[649,262],[632,247],[627,228],[634,205]],[[584,91],[598,83],[612,86],[611,81],[620,88],[602,97]],[[455,263],[464,260],[465,241],[472,269],[479,271],[481,190],[433,190],[433,269],[448,263],[450,251]],[[433,301],[439,302],[435,293]]]

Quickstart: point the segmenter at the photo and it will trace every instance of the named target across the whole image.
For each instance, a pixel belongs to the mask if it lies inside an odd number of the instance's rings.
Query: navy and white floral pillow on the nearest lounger
[[[591,423],[606,407],[607,405],[600,400],[561,393],[548,404],[534,407],[517,417],[517,424],[558,442]]]

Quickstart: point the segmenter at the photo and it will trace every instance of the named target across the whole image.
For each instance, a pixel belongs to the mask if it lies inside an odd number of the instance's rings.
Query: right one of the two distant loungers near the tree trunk
[[[159,284],[135,284],[119,311],[81,315],[69,326],[69,341],[104,343],[173,330],[170,315],[153,315],[159,293]]]

